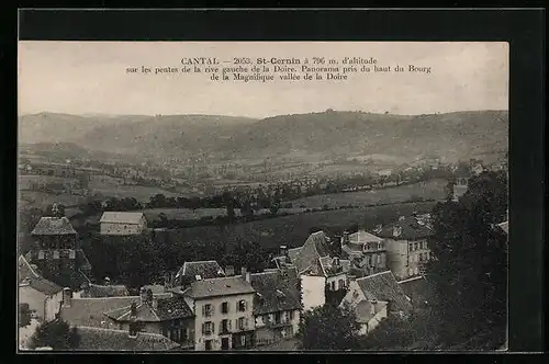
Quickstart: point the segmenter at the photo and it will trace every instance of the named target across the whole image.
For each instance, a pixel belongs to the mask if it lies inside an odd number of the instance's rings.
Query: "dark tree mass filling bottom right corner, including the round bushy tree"
[[[325,305],[306,312],[301,323],[303,349],[493,350],[505,341],[507,236],[495,224],[506,220],[507,178],[504,171],[471,178],[458,201],[433,209],[434,236],[427,281],[435,297],[428,310],[406,319],[389,317],[358,339],[355,316]]]

